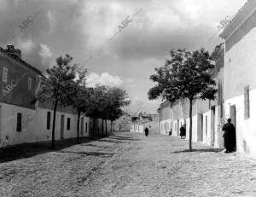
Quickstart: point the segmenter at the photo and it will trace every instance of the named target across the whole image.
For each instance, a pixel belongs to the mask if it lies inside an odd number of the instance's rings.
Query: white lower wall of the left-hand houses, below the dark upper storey
[[[6,145],[14,145],[23,142],[40,142],[51,140],[51,130],[53,126],[53,111],[43,108],[38,108],[37,111],[25,107],[17,107],[8,104],[1,104],[2,106],[2,133],[1,133],[1,147]],[[47,112],[50,112],[50,128],[47,130]],[[22,113],[22,131],[16,131],[17,113]],[[77,115],[69,113],[56,113],[55,119],[55,140],[61,139],[61,115],[64,115],[64,138],[77,136]],[[27,120],[26,124],[24,121]],[[71,119],[70,130],[67,130],[67,118]],[[87,132],[85,125],[88,125]],[[89,135],[89,118],[84,117],[84,136]],[[6,138],[9,140],[6,140]]]

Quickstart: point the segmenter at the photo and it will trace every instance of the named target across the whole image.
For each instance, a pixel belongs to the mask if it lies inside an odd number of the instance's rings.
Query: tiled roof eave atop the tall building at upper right
[[[220,38],[228,39],[236,32],[236,30],[247,20],[256,10],[256,0],[248,0],[244,6],[239,9],[234,18],[230,21],[229,25],[219,35]]]

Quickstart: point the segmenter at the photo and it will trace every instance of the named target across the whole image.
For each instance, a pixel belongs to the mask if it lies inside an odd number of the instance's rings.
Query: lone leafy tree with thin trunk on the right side
[[[162,98],[171,102],[189,100],[189,151],[192,151],[192,104],[194,99],[216,99],[216,82],[211,78],[214,68],[205,49],[190,52],[186,49],[172,49],[171,60],[164,67],[155,68],[150,79],[157,83],[148,90],[148,99]]]

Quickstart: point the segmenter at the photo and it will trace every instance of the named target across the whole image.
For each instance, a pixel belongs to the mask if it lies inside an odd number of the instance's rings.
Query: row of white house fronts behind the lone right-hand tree
[[[219,44],[212,52],[215,68],[212,70],[212,78],[217,82],[218,94],[216,101],[192,102],[192,142],[203,142],[212,147],[223,147],[222,119],[224,119],[224,44]],[[172,103],[165,101],[158,109],[160,121],[160,134],[168,134],[172,130],[172,136],[179,136],[180,127],[186,127],[186,139],[189,139],[189,100],[179,99]]]

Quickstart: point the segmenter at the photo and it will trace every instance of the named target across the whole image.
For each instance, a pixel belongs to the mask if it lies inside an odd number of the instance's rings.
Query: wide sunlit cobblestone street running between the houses
[[[0,164],[0,196],[256,196],[256,160],[173,136],[114,133]]]

